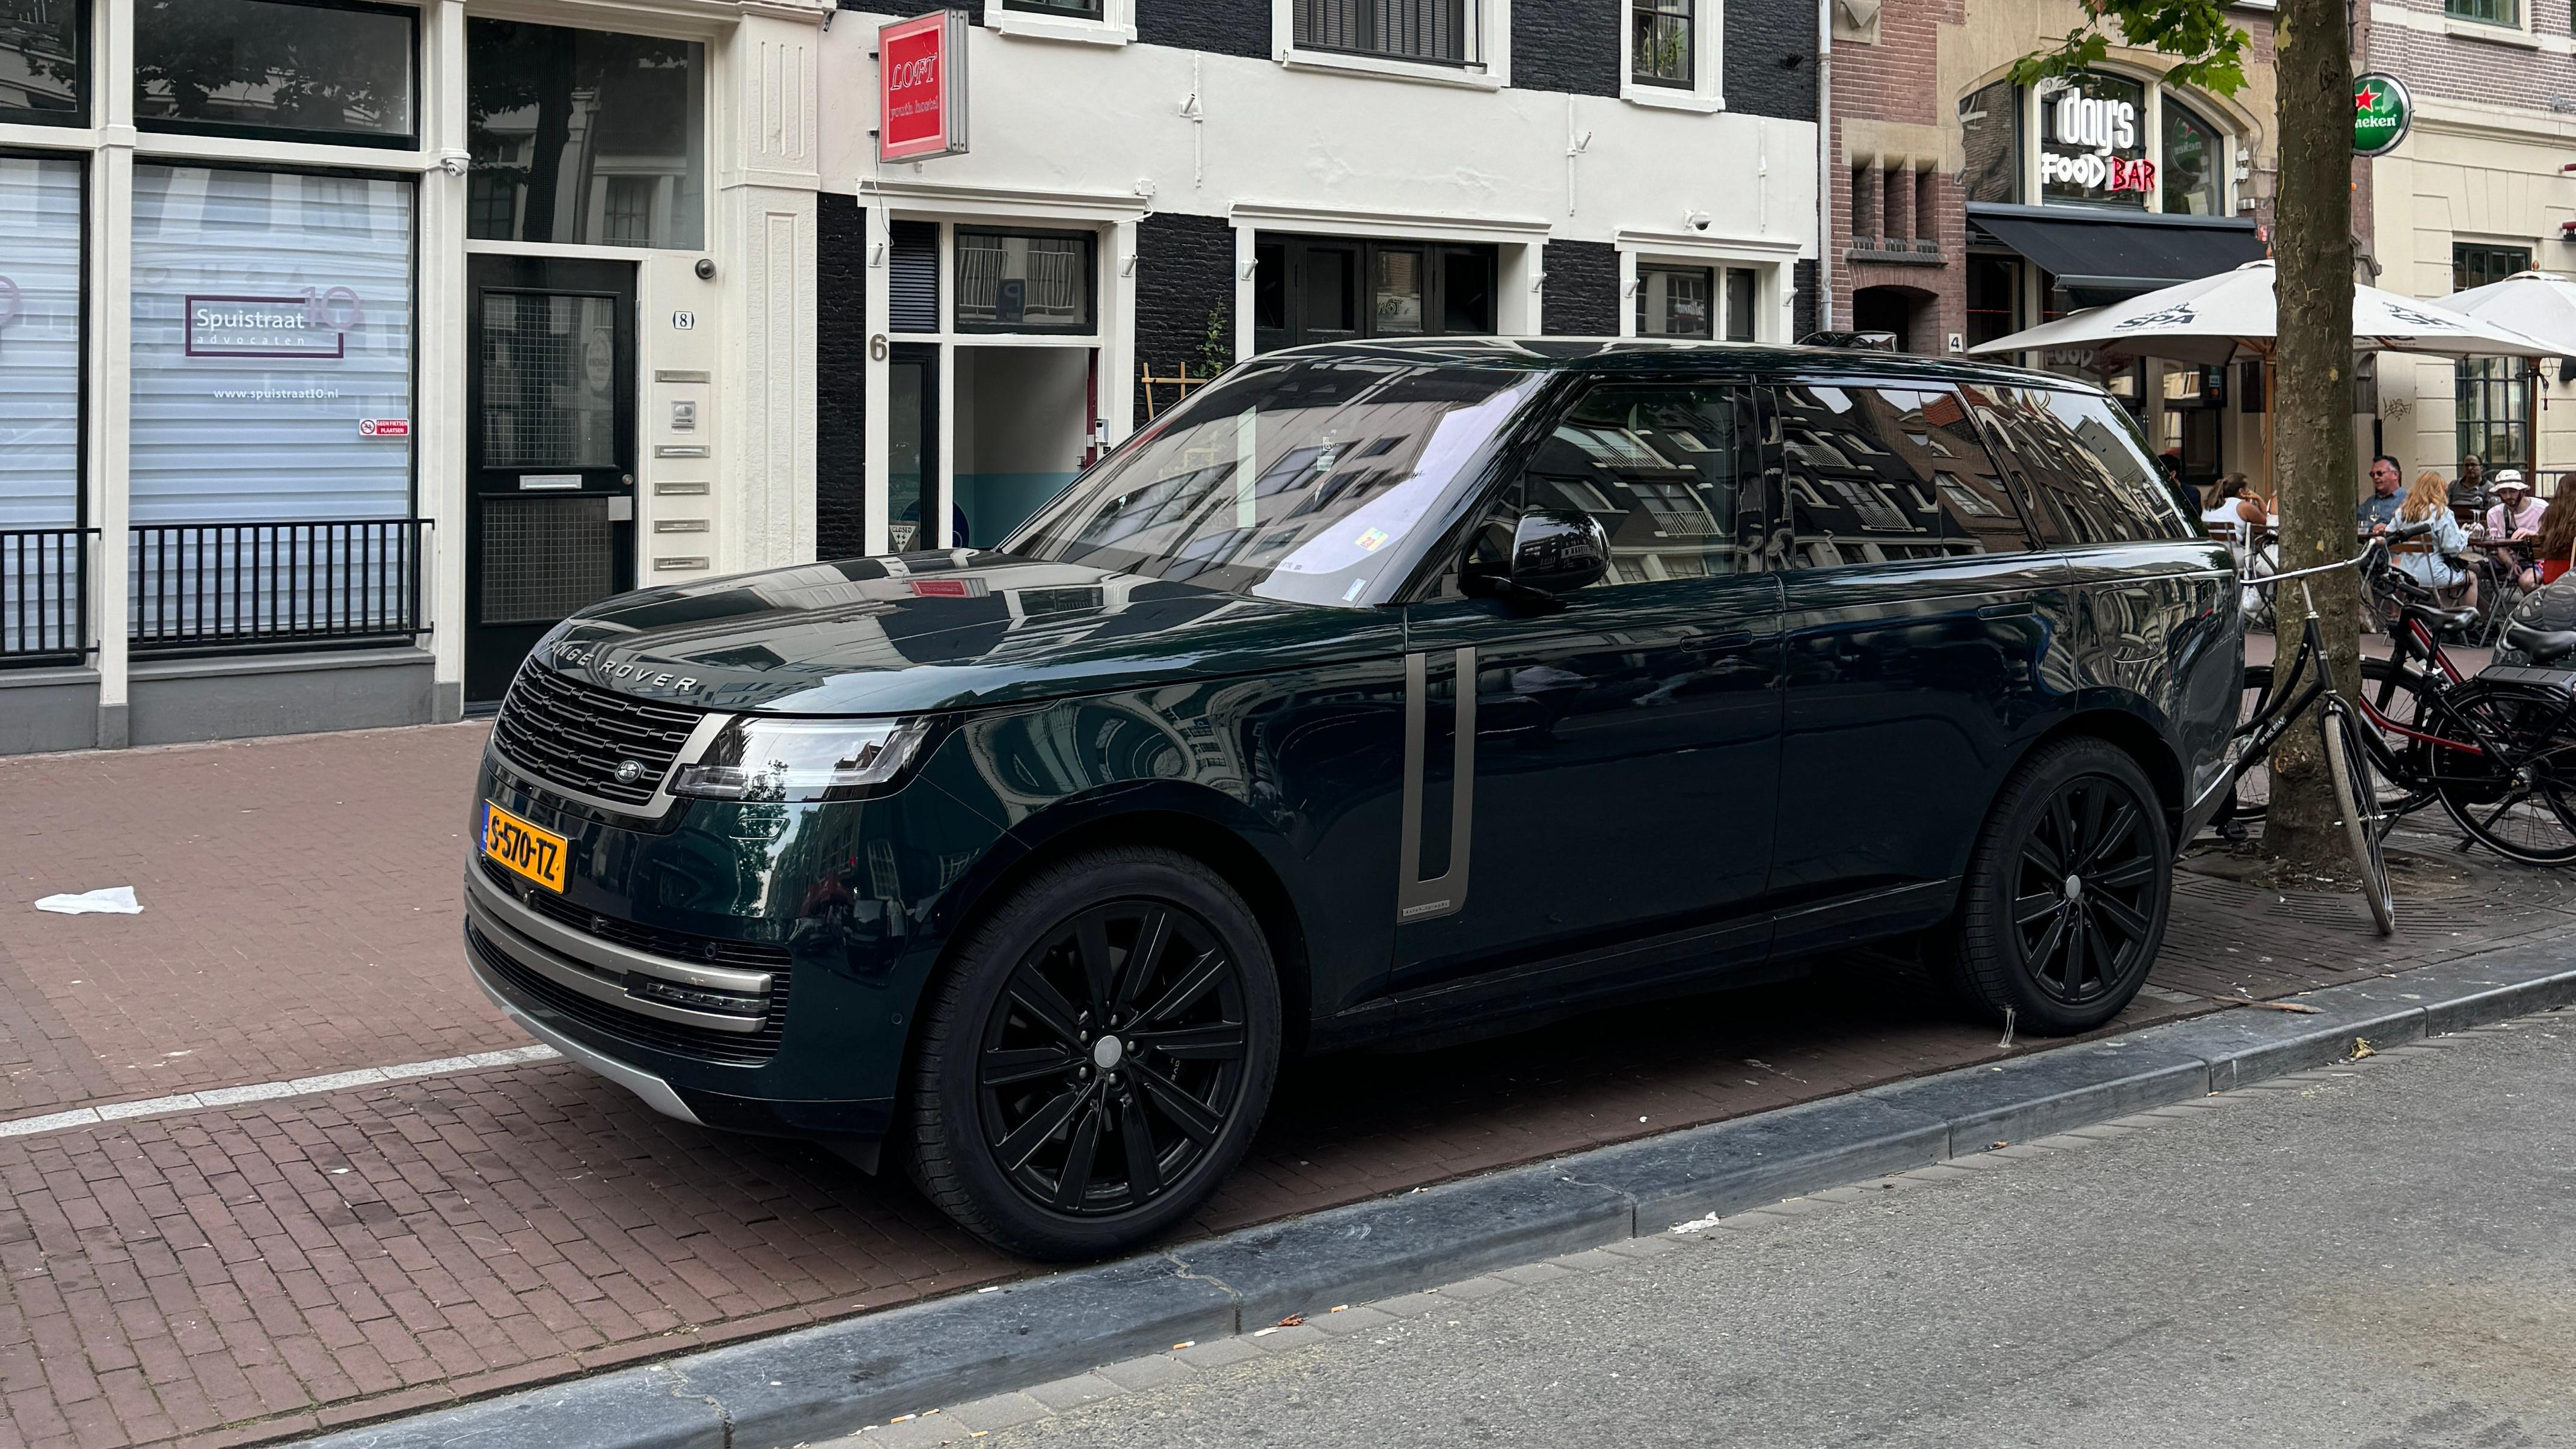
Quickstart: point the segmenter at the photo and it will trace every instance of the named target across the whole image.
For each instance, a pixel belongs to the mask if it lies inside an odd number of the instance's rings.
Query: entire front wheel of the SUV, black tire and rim
[[[1234,1171],[1278,1060],[1278,969],[1242,895],[1177,851],[1082,851],[971,926],[933,980],[912,1181],[1010,1253],[1118,1253]]]

